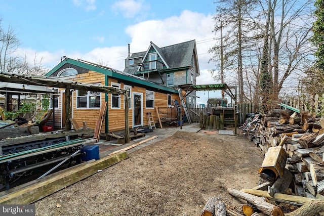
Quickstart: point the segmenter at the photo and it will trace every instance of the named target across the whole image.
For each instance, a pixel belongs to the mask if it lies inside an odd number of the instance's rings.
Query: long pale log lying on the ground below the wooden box
[[[272,205],[271,203],[264,201],[262,198],[260,198],[258,196],[255,196],[255,195],[252,195],[249,193],[245,193],[242,191],[238,191],[235,189],[227,189],[227,191],[232,196],[235,196],[240,199],[244,199],[244,200],[252,203],[260,211],[262,211],[268,215],[280,215],[280,216],[282,215],[282,216],[284,216],[284,212],[282,212],[282,210],[278,206]]]

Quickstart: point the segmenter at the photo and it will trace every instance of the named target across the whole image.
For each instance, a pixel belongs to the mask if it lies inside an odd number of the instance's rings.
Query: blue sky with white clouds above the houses
[[[208,54],[217,41],[212,32],[213,0],[0,0],[1,26],[11,26],[27,61],[49,70],[66,56],[123,71],[130,52],[195,39],[200,69],[196,84],[220,83],[209,70]],[[220,91],[197,92],[197,104]]]

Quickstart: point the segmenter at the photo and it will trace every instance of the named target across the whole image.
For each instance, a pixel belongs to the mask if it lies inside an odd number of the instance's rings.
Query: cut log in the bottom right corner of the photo
[[[324,211],[324,200],[311,200],[293,212],[285,213],[285,216],[317,215],[321,211]]]

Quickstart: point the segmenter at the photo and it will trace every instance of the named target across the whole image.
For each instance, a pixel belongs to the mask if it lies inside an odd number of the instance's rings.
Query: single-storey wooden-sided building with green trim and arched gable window
[[[129,109],[129,125],[132,128],[147,126],[147,113],[150,112],[157,123],[156,109],[171,107],[172,100],[179,100],[178,91],[148,81],[122,71],[95,63],[64,58],[46,76],[56,77],[95,85],[106,85],[118,89],[128,89],[129,107],[125,107],[124,95],[75,90],[71,94],[71,118],[78,124],[87,122],[87,126],[95,128],[102,102],[106,101],[105,133],[123,131],[125,129],[125,109]],[[65,89],[54,89],[57,96],[50,107],[55,109],[55,126],[65,127]],[[53,100],[51,100],[53,101]],[[176,117],[173,112],[169,117]]]

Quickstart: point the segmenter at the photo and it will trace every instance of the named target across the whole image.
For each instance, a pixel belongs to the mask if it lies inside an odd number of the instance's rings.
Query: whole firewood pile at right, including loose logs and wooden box
[[[201,215],[324,215],[324,119],[277,109],[240,129],[265,155],[259,185],[228,189],[246,203],[226,207],[213,197]]]

